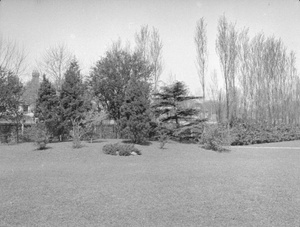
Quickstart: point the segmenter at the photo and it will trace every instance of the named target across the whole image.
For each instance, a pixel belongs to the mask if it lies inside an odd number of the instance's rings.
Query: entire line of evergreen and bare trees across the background
[[[218,87],[216,71],[211,78],[207,75],[206,33],[207,24],[204,18],[200,18],[194,36],[196,67],[204,104],[211,105],[218,122],[230,125],[236,119],[249,119],[273,126],[299,124],[300,79],[295,52],[288,51],[282,40],[274,36],[259,33],[250,37],[248,28],[238,29],[221,16],[215,47],[224,86]],[[24,101],[22,94],[26,86],[18,75],[24,69],[24,52],[18,51],[12,42],[3,39],[0,42],[1,116],[20,123],[22,113],[18,112],[18,105]],[[36,96],[35,116],[44,121],[55,135],[69,131],[79,133],[77,129],[83,122],[92,122],[92,118],[97,118],[95,113],[101,111],[118,123],[119,136],[128,134],[129,129],[137,132],[137,128],[140,131],[144,128],[144,134],[147,134],[151,120],[158,117],[157,113],[171,119],[178,127],[179,115],[172,114],[183,105],[171,105],[172,100],[162,99],[168,97],[167,92],[173,91],[179,95],[177,101],[174,97],[173,100],[179,103],[178,100],[188,97],[188,91],[182,83],[177,86],[181,86],[180,92],[183,93],[176,91],[176,83],[160,86],[162,49],[158,30],[142,26],[135,34],[133,49],[123,47],[121,40],[114,42],[94,64],[89,75],[83,76],[78,61],[65,45],[49,48],[38,62],[43,79]],[[209,86],[208,81],[213,81],[213,84]],[[156,110],[151,111],[151,106],[156,106]],[[197,112],[185,111],[186,116]],[[135,123],[126,123],[131,121]],[[137,122],[144,123],[139,125]],[[143,133],[132,135],[133,140],[141,141],[137,138],[139,135]]]

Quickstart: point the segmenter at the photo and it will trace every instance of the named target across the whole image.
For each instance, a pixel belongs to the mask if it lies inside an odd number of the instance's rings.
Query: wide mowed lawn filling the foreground
[[[0,146],[0,226],[300,226],[300,149],[108,142]]]

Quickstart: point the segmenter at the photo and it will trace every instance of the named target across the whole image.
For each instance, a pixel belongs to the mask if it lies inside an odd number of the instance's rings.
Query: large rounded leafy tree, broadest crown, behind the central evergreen
[[[96,63],[90,74],[90,85],[109,118],[117,122],[121,118],[121,106],[132,75],[138,80],[149,81],[151,73],[152,67],[140,53],[130,53],[114,45]]]

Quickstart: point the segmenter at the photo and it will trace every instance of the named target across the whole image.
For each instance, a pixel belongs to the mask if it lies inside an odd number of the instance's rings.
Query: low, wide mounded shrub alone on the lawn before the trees
[[[141,151],[133,144],[106,144],[102,148],[104,154],[130,156],[133,154],[141,155]]]

